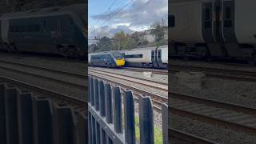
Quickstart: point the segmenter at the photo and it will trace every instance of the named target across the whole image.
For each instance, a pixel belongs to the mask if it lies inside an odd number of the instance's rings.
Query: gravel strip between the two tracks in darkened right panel
[[[256,108],[256,82],[205,78],[202,82],[202,90],[196,90],[178,84],[178,78],[175,74],[170,74],[170,83],[170,90],[176,93]]]

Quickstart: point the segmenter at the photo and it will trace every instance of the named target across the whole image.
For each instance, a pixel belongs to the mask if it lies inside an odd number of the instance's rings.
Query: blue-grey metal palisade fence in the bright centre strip
[[[139,143],[153,144],[154,114],[150,97],[139,98],[138,109]],[[88,110],[89,143],[138,143],[135,139],[132,91],[124,91],[122,97],[120,87],[111,86],[110,83],[103,82],[101,79],[89,77]],[[162,105],[162,131],[163,143],[167,144],[168,106],[166,104]]]

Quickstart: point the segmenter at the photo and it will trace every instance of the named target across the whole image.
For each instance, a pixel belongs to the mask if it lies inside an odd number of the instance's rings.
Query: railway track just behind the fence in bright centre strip
[[[164,85],[164,87],[160,87],[158,82],[146,82],[145,79],[137,79],[134,82],[134,79],[129,79],[130,77],[126,77],[124,75],[117,75],[117,74],[108,74],[108,72],[98,71],[98,70],[88,70],[90,76],[94,76],[95,78],[101,78],[102,80],[106,82],[110,82],[114,84],[115,86],[121,86],[122,91],[124,90],[133,90],[135,99],[138,100],[141,96],[150,96],[153,101],[154,109],[161,111],[162,110],[162,103],[168,102],[168,97],[162,96],[160,94],[152,93],[148,90],[143,90],[142,88],[138,88],[137,86],[133,86],[132,84],[126,84],[120,79],[133,82],[133,83],[139,83],[143,86],[150,86],[151,88],[154,88],[155,90],[162,90],[164,93],[168,94],[168,85]],[[141,81],[141,82],[138,82]]]

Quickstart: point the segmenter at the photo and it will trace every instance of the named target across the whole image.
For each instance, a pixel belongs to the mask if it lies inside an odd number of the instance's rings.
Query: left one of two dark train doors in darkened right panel
[[[221,43],[218,42],[218,33],[216,33],[218,25],[218,9],[216,9],[216,0],[206,1],[202,3],[202,34],[204,41],[208,46],[208,50],[212,57],[224,57]]]

